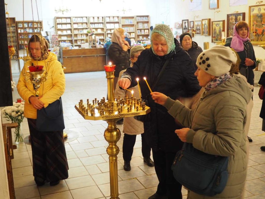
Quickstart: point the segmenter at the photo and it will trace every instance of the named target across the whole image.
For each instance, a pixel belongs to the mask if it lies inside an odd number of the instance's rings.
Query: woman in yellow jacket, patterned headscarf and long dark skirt
[[[35,41],[35,38],[36,41]],[[17,83],[17,91],[25,100],[24,115],[28,118],[32,148],[33,175],[38,186],[50,182],[50,186],[68,178],[68,163],[64,147],[63,131],[38,131],[36,129],[37,110],[46,108],[61,97],[65,90],[65,77],[55,54],[48,52],[48,42],[41,35],[29,40],[29,55]],[[40,84],[35,96],[34,85],[25,81],[23,75],[28,66],[44,66],[47,80]],[[26,73],[27,76],[29,74]]]

